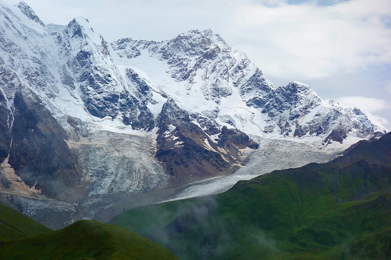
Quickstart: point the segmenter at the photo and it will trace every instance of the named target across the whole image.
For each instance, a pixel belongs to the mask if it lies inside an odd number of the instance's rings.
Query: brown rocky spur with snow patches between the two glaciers
[[[167,165],[170,174],[179,178],[230,173],[235,169],[240,149],[258,148],[257,143],[239,130],[226,126],[203,130],[197,120],[171,98],[163,105],[157,126],[156,158]]]

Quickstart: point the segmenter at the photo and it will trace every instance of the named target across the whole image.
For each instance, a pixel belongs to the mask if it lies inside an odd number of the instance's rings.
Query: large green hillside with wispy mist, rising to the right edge
[[[183,259],[391,259],[391,135],[325,164],[127,211],[111,223]]]

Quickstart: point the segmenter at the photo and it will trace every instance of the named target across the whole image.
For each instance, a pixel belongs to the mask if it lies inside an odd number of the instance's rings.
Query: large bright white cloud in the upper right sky
[[[389,0],[247,4],[238,10],[237,26],[244,51],[266,75],[309,80],[391,63],[391,30],[382,23],[390,14]]]

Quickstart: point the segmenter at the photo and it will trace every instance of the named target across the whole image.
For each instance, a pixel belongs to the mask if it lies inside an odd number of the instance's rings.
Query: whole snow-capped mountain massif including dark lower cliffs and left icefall
[[[384,132],[303,83],[275,87],[211,30],[108,43],[84,18],[45,25],[2,0],[0,115],[0,192],[67,221],[231,174],[259,147],[248,135],[306,142],[325,162],[330,147]]]

